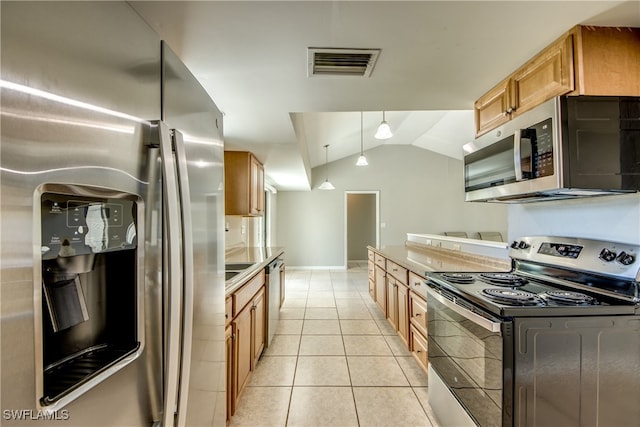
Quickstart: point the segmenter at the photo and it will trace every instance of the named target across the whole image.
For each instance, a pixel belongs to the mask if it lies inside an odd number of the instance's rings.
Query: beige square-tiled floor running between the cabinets
[[[287,270],[278,331],[230,426],[435,426],[427,375],[368,292],[366,262]]]

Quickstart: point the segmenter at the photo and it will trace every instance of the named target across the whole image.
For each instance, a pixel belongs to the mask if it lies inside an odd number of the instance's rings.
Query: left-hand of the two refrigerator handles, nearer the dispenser
[[[167,297],[167,335],[165,347],[164,375],[164,409],[162,425],[175,424],[175,413],[178,405],[178,386],[180,382],[180,350],[181,350],[181,306],[182,306],[182,220],[178,206],[179,190],[177,167],[173,156],[171,133],[162,121],[156,122],[158,143],[162,168],[164,212],[166,219],[166,247],[168,256]]]

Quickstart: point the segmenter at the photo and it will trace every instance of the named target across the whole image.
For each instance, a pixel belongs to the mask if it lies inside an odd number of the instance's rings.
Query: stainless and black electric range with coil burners
[[[639,254],[637,244],[535,236],[511,244],[510,271],[426,273],[440,423],[460,423],[453,406],[483,427],[640,419]],[[444,403],[443,390],[454,398]]]

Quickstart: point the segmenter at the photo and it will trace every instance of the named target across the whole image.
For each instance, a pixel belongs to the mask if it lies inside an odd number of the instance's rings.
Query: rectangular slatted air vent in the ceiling
[[[308,76],[369,77],[380,49],[308,48]]]

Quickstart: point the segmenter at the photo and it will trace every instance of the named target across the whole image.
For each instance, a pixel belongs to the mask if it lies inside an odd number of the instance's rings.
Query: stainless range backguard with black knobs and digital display
[[[575,237],[522,237],[511,243],[509,256],[566,267],[640,280],[640,246]]]

